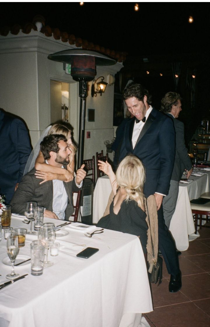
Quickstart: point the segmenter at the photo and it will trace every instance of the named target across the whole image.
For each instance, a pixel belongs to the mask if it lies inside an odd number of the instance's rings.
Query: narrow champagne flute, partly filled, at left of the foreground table
[[[14,279],[20,276],[20,274],[16,274],[14,271],[14,263],[15,259],[18,255],[19,247],[18,247],[18,237],[14,235],[10,235],[7,238],[7,254],[12,264],[12,271],[11,274],[8,274],[6,278]]]

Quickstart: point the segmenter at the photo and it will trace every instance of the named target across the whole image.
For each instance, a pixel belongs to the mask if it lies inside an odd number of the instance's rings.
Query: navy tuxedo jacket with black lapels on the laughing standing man
[[[163,113],[153,109],[133,149],[134,122],[135,118],[126,124],[120,160],[128,153],[133,153],[143,162],[146,170],[144,184],[146,197],[155,192],[167,195],[175,154],[173,122]]]

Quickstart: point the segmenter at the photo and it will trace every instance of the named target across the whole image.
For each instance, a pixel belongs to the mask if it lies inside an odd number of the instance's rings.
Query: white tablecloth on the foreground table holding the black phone
[[[12,215],[11,226],[24,227],[24,217]],[[56,226],[63,220],[44,217]],[[30,260],[15,267],[24,279],[0,289],[1,327],[128,327],[149,326],[142,313],[153,311],[147,267],[135,235],[98,230],[72,222],[56,232],[58,256],[40,276],[31,275]],[[26,234],[16,262],[30,259],[30,244],[37,235]],[[76,255],[87,247],[98,252],[88,259]],[[0,242],[0,284],[11,271],[4,233]],[[138,322],[138,324],[136,324]],[[145,324],[144,324],[145,323]]]

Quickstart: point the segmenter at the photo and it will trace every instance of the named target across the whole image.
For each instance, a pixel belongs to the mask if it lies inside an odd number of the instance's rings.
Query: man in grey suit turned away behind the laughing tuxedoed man
[[[170,221],[176,208],[179,193],[179,181],[186,171],[186,178],[192,173],[192,163],[187,154],[184,139],[184,124],[178,119],[182,110],[181,97],[176,92],[168,92],[161,100],[161,111],[166,113],[174,124],[176,133],[176,150],[173,171],[170,180],[169,194],[163,199],[163,215],[166,226],[170,227]]]

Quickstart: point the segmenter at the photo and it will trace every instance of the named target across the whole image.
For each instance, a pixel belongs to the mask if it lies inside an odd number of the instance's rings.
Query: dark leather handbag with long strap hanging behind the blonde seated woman
[[[147,204],[147,201],[146,201]],[[147,215],[148,215],[148,222],[149,222],[149,227],[150,227],[150,215],[149,215],[149,210],[148,210],[148,206],[147,206]],[[152,244],[152,254],[153,254],[153,269],[151,273],[149,274],[149,281],[151,283],[157,284],[157,286],[159,284],[161,284],[162,282],[162,276],[163,276],[163,259],[158,255],[157,256],[157,261],[155,260],[155,255],[154,255],[154,246],[153,246],[153,239],[152,239],[152,233],[150,233],[151,235],[151,244]]]

